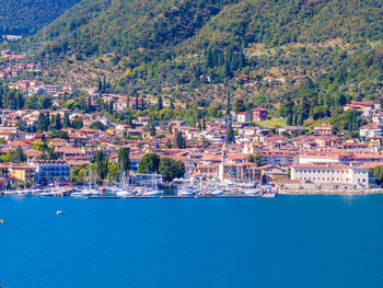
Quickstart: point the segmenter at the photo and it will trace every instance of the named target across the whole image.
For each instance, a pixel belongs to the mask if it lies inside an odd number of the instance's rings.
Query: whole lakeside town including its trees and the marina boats
[[[27,61],[26,56],[10,50],[1,56],[10,64]],[[164,103],[161,95],[149,100],[138,92],[111,94],[100,88],[82,92],[79,101],[74,85],[20,77],[40,69],[42,64],[24,62],[0,71],[2,79],[14,78],[7,82],[0,111],[3,193],[88,183],[89,187],[117,185],[123,191],[134,184],[141,187],[136,187],[135,195],[146,195],[142,186],[154,195],[158,185],[179,195],[380,192],[380,102],[351,101],[343,106],[344,112],[352,111],[364,119],[358,137],[348,137],[328,120],[309,127],[269,127],[263,125],[274,117],[268,108],[259,105],[235,112],[230,99],[220,117],[161,120],[143,112],[173,113],[185,106]],[[134,111],[143,114],[132,115]],[[119,159],[121,154],[126,159]],[[156,166],[148,164],[156,160]]]

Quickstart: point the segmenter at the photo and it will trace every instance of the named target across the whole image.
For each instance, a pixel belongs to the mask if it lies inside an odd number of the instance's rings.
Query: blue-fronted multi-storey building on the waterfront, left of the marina
[[[36,181],[42,184],[66,182],[70,180],[70,164],[63,160],[32,160],[30,166],[35,169]]]

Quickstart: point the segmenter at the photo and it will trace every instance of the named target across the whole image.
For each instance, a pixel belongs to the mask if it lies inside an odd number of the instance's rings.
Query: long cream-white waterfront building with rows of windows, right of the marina
[[[301,163],[291,166],[291,180],[318,185],[369,188],[369,169],[338,163]]]

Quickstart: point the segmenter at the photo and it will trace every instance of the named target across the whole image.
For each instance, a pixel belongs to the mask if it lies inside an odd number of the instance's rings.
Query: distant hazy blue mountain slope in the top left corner
[[[30,35],[80,0],[0,0],[0,35]]]

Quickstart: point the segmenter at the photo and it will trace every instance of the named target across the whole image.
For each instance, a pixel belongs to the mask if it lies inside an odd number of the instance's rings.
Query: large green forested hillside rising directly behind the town
[[[56,79],[106,76],[181,102],[227,89],[254,105],[309,96],[322,117],[381,97],[382,16],[379,0],[82,0],[31,42]]]

